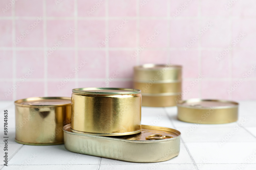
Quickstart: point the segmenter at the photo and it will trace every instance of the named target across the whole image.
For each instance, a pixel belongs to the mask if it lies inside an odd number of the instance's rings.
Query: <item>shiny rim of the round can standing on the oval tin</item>
[[[85,91],[85,90],[99,90],[99,91]],[[100,90],[126,90],[127,92],[100,92]],[[73,93],[78,94],[97,94],[97,95],[133,95],[140,94],[141,90],[133,88],[113,88],[113,87],[84,87],[74,88]]]

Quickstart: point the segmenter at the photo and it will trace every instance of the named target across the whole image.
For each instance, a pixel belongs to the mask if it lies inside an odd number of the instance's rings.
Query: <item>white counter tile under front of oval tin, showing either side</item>
[[[102,158],[101,164],[138,164],[138,163]],[[148,164],[155,164],[155,163],[148,163]],[[180,153],[178,156],[175,156],[174,158],[172,158],[168,161],[158,162],[158,164],[192,164],[192,161],[190,159],[190,156],[189,156],[184,144],[181,143],[180,144]]]

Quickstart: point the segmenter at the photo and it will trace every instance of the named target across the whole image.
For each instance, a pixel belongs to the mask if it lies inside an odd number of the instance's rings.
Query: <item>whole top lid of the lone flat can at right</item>
[[[215,109],[220,109],[238,107],[238,103],[228,100],[189,99],[185,101],[178,101],[177,106],[193,109],[208,109],[211,107],[214,107]]]

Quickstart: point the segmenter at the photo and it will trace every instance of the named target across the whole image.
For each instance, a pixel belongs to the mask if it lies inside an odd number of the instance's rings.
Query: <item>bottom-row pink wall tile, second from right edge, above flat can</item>
[[[208,81],[202,80],[201,93],[203,99],[229,99],[227,90],[229,89],[228,81]]]

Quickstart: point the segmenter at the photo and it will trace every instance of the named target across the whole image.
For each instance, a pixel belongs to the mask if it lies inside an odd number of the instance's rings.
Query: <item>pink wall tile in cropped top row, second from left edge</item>
[[[24,17],[43,16],[43,1],[16,1],[15,15]]]

